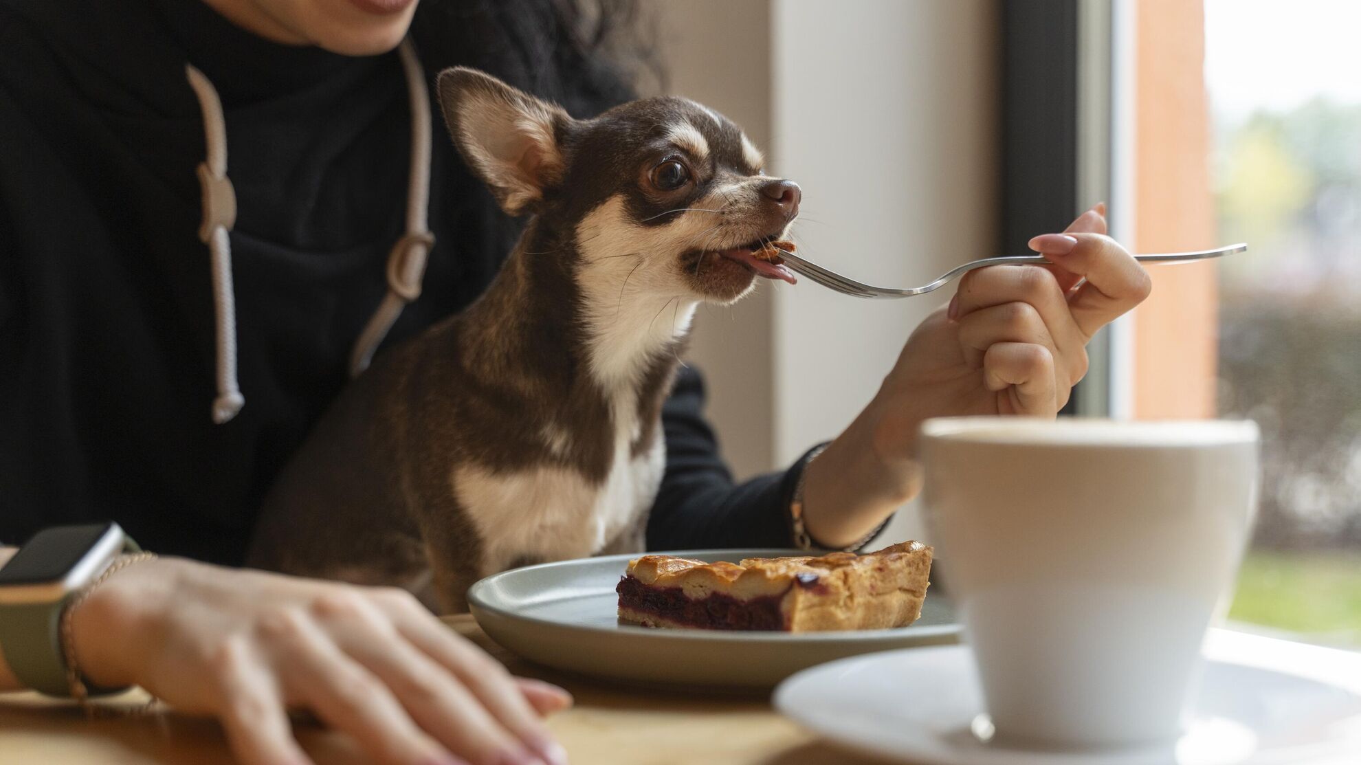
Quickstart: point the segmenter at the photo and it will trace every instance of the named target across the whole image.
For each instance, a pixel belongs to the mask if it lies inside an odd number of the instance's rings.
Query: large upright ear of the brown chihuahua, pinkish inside
[[[557,136],[572,117],[561,106],[465,67],[440,72],[437,91],[453,143],[508,214],[562,178]]]

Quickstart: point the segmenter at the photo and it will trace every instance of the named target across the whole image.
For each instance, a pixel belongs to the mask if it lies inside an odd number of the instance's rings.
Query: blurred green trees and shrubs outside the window
[[[1215,133],[1219,414],[1263,430],[1256,542],[1361,559],[1361,105],[1315,99]]]

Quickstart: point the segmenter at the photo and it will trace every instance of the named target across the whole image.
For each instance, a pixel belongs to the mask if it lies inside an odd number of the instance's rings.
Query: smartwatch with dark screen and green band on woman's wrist
[[[33,535],[0,566],[0,652],[23,685],[71,696],[61,613],[118,555],[139,550],[116,523],[61,525]],[[90,686],[91,694],[117,690]]]

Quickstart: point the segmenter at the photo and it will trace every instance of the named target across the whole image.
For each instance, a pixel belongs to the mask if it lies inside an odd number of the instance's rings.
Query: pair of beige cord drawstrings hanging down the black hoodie
[[[407,181],[406,234],[388,256],[388,294],[355,342],[350,357],[350,374],[369,366],[373,353],[396,323],[401,309],[421,295],[426,260],[434,246],[427,227],[430,200],[430,93],[425,72],[410,39],[399,49],[401,71],[407,79],[411,102],[411,170]],[[218,396],[212,402],[212,422],[222,425],[245,406],[237,382],[237,308],[231,284],[231,238],[237,221],[237,195],[227,177],[227,128],[222,117],[222,99],[203,72],[185,64],[185,76],[203,110],[203,133],[207,157],[199,163],[203,193],[203,223],[199,238],[212,257],[212,308],[216,314]]]

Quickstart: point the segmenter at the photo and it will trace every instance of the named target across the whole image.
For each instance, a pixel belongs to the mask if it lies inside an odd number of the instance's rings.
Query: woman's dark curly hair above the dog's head
[[[475,67],[578,117],[661,80],[637,0],[425,0],[411,34],[430,75]]]

